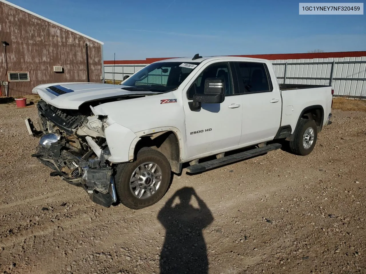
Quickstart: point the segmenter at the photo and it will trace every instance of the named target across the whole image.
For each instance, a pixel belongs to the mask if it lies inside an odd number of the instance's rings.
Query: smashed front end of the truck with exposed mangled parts
[[[107,117],[94,115],[89,105],[65,110],[40,100],[37,108],[40,130],[26,120],[29,133],[40,137],[37,153],[32,156],[54,170],[51,176],[81,186],[93,202],[111,206],[117,197],[104,136]]]

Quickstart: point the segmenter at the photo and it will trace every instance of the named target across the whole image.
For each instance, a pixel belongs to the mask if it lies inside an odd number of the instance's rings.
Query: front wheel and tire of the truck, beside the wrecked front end
[[[155,170],[154,164],[157,165]],[[171,180],[169,161],[155,149],[142,148],[137,153],[136,161],[117,165],[116,169],[117,194],[120,202],[128,208],[142,209],[151,206],[163,198],[169,188]],[[153,187],[156,187],[154,193]],[[141,193],[142,196],[137,197]]]

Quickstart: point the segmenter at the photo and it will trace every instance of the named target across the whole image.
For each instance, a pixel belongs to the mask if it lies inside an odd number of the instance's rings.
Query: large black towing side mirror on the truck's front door
[[[207,78],[203,94],[193,95],[193,102],[205,104],[217,104],[224,102],[225,84],[221,78]]]

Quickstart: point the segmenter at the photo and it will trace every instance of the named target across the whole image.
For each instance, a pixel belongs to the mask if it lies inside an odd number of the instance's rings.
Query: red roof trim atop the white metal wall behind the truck
[[[288,59],[314,59],[314,58],[343,58],[343,57],[361,57],[366,56],[364,52],[319,52],[319,53],[284,53],[284,54],[254,54],[254,55],[229,55],[237,57],[251,57],[268,60],[288,60]],[[172,58],[172,57],[171,57]],[[151,64],[156,61],[170,58],[146,58],[145,60],[116,60],[104,61],[105,65],[128,65],[128,64]]]

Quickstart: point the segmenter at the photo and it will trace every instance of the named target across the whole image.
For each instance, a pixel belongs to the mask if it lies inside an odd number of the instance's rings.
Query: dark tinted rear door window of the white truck
[[[237,62],[240,93],[272,91],[267,66],[264,63]],[[241,85],[242,84],[242,85]]]

